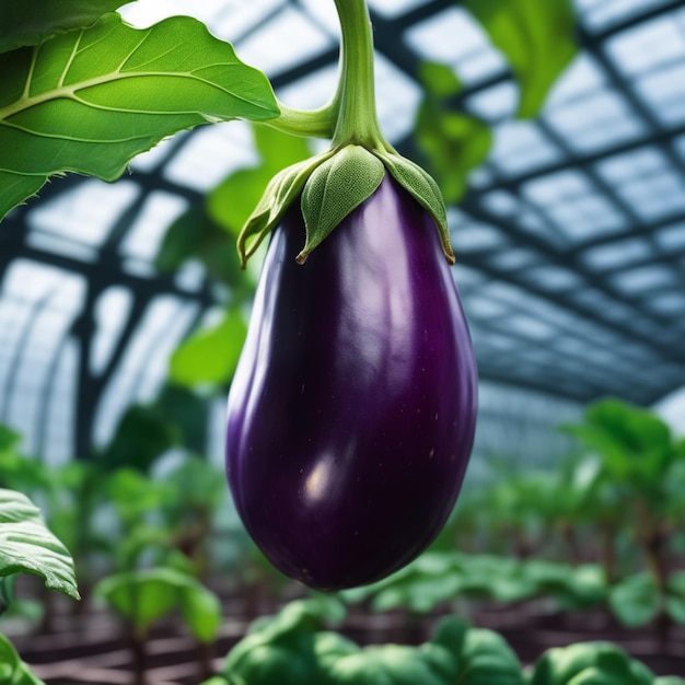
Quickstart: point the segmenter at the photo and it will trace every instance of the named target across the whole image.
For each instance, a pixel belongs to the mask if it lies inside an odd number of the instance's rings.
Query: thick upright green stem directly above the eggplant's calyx
[[[379,125],[373,74],[373,35],[365,0],[335,0],[340,19],[339,113],[333,146],[392,151]]]

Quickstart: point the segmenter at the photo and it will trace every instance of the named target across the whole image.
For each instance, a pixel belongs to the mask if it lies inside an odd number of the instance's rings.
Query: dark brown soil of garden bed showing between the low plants
[[[239,608],[239,604],[224,604]],[[264,607],[267,609],[267,607]],[[472,607],[474,608],[474,607]],[[272,612],[276,606],[267,609]],[[498,630],[523,663],[532,663],[550,647],[590,640],[611,640],[658,675],[685,675],[685,629],[675,626],[665,647],[649,628],[628,630],[603,609],[544,612],[535,603],[502,607],[484,603],[473,623]],[[361,645],[400,642],[417,645],[430,636],[446,609],[418,617],[404,612],[369,613],[352,608],[340,631]],[[471,613],[471,612],[469,612]],[[74,624],[78,622],[78,625]],[[240,640],[248,620],[235,611],[224,618],[207,663],[218,672],[225,653]],[[14,637],[23,659],[47,685],[131,685],[131,650],[121,627],[105,614],[81,619],[61,616],[54,635]],[[197,643],[173,622],[159,626],[147,645],[148,685],[197,685],[207,673],[198,665]],[[306,684],[303,684],[306,685]]]

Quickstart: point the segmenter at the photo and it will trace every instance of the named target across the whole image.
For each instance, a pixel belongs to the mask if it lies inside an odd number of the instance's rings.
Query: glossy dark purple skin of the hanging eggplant
[[[388,174],[300,266],[304,239],[290,208],[229,393],[227,471],[271,564],[334,591],[402,568],[444,525],[477,376],[433,220]]]

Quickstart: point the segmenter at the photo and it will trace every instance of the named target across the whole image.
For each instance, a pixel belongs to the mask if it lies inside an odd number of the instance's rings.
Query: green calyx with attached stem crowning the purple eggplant
[[[335,0],[335,3],[342,43],[340,79],[334,98],[318,113],[281,107],[285,116],[268,121],[269,126],[295,135],[330,137],[330,150],[289,166],[271,179],[239,236],[241,264],[246,264],[300,196],[306,240],[297,260],[304,264],[311,252],[373,195],[386,172],[433,217],[445,258],[454,264],[438,184],[420,166],[399,155],[381,132],[365,1]]]

